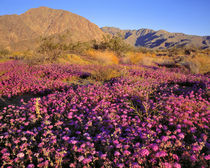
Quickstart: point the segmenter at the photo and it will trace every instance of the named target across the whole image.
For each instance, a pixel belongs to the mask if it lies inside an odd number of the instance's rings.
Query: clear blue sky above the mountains
[[[210,0],[0,0],[0,15],[40,6],[70,11],[99,27],[210,35]]]

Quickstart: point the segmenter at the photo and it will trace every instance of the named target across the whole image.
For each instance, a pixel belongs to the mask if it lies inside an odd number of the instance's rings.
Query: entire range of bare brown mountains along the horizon
[[[210,36],[194,36],[151,29],[121,30],[99,28],[86,18],[65,10],[48,7],[32,8],[21,15],[0,16],[0,48],[33,49],[40,37],[65,35],[67,42],[100,41],[107,34],[121,34],[126,43],[153,49],[174,46],[210,48]]]

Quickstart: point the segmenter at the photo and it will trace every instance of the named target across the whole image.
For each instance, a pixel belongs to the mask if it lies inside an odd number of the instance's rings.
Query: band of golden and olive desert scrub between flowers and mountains
[[[11,52],[1,50],[0,60],[24,60],[27,64],[70,63],[70,64],[138,64],[180,68],[190,73],[208,73],[210,59],[208,49],[173,48],[149,50],[125,47],[119,37],[107,37],[104,41],[85,43],[60,43],[54,38],[44,38],[37,50]],[[97,46],[97,47],[96,47]]]

